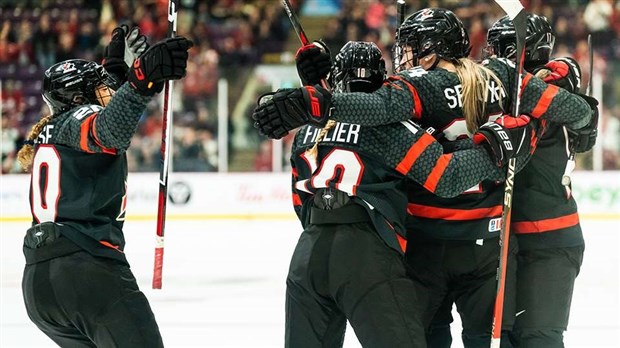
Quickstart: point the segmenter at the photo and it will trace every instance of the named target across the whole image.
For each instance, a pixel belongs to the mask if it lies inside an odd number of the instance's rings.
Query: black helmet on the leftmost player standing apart
[[[56,63],[45,71],[43,99],[52,114],[58,114],[78,105],[102,105],[100,87],[117,85],[103,66],[83,60],[70,59]]]

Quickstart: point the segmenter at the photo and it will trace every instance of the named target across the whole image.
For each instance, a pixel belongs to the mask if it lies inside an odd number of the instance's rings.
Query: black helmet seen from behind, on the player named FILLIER
[[[349,41],[336,55],[332,79],[339,92],[373,92],[381,87],[387,71],[381,50],[374,42]]]

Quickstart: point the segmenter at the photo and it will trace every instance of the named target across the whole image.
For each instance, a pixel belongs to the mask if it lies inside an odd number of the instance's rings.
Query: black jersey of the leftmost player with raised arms
[[[91,254],[126,262],[125,151],[150,99],[124,84],[106,108],[76,107],[47,123],[35,140],[33,224],[55,222]]]

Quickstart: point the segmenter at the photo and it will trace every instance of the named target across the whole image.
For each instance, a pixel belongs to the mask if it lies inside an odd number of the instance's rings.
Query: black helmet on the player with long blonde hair
[[[463,22],[452,11],[442,8],[426,8],[407,17],[396,31],[394,46],[395,66],[400,65],[406,46],[413,51],[413,65],[432,53],[455,62],[467,57],[471,50]]]

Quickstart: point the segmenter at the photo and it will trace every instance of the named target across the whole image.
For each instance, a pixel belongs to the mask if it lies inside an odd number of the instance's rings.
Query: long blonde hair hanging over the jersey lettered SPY
[[[502,91],[504,85],[493,71],[469,58],[460,58],[454,65],[462,87],[465,124],[467,130],[473,134],[488,121],[486,104],[489,97],[489,83],[491,80],[495,81]],[[499,102],[501,105],[501,98]]]

